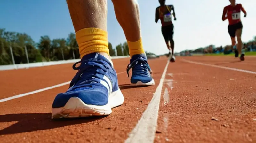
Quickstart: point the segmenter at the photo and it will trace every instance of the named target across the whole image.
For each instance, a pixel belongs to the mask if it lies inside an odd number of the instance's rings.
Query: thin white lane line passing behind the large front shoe
[[[124,71],[124,72],[126,72],[126,71]],[[119,72],[119,73],[117,73],[117,75],[121,74],[121,73],[124,73],[124,72]],[[38,90],[31,91],[31,92],[24,93],[24,94],[14,95],[12,97],[1,99],[0,102],[5,102],[5,101],[12,100],[12,99],[15,99],[15,98],[20,98],[20,97],[27,96],[27,95],[30,95],[30,94],[35,94],[35,93],[39,93],[39,92],[42,92],[42,91],[45,91],[45,90],[61,87],[61,86],[69,84],[70,82],[71,81],[67,81],[67,82],[64,82],[64,83],[61,83],[61,84],[57,84],[57,85],[54,85],[54,86],[51,86],[51,87],[46,87],[46,88],[38,89]]]

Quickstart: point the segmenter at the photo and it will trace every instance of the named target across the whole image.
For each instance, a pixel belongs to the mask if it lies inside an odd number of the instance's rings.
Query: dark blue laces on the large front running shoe
[[[80,63],[80,66],[76,67]],[[109,67],[105,65],[103,60],[92,58],[84,61],[79,61],[73,64],[73,69],[78,70],[75,77],[70,82],[69,87],[74,86],[74,88],[84,87],[85,84],[100,83],[102,79],[96,74],[105,75]],[[86,87],[91,87],[87,85]]]

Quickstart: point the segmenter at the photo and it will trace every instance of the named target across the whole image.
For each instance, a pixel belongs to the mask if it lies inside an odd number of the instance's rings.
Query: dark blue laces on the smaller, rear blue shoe
[[[145,75],[148,73],[148,71],[151,71],[148,65],[148,61],[142,57],[139,57],[135,59],[133,62],[131,62],[130,64],[128,64],[126,68],[128,77],[129,77],[129,71],[131,68],[133,71],[133,75]]]

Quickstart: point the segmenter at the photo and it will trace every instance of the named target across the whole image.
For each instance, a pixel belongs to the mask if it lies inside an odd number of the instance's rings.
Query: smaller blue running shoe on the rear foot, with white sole
[[[152,78],[152,71],[148,65],[147,57],[145,54],[133,55],[130,64],[128,64],[126,71],[129,77],[129,70],[132,68],[132,85],[155,85]]]

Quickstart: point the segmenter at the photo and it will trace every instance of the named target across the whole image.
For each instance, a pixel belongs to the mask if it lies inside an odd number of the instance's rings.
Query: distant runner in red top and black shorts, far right
[[[222,20],[224,21],[228,19],[228,23],[229,23],[228,33],[231,37],[231,42],[233,47],[236,47],[235,37],[237,38],[237,49],[235,49],[235,57],[238,57],[239,54],[241,54],[240,60],[243,61],[244,53],[242,53],[242,40],[241,40],[243,24],[240,19],[240,13],[242,10],[244,13],[244,17],[246,17],[247,13],[244,10],[242,4],[236,4],[236,0],[229,0],[229,1],[231,4],[224,7]]]

